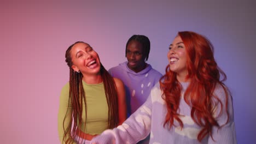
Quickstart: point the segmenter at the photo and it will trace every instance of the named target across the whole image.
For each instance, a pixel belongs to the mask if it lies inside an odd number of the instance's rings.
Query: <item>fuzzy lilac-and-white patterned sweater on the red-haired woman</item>
[[[166,116],[166,103],[161,97],[162,92],[159,83],[157,83],[152,88],[146,103],[139,107],[122,125],[113,130],[105,130],[101,135],[92,139],[91,143],[136,143],[144,139],[149,133],[149,143],[152,144],[200,143],[197,140],[197,135],[201,127],[191,118],[191,107],[183,99],[183,93],[189,83],[183,82],[181,84],[183,90],[179,104],[179,114],[182,115],[180,118],[184,124],[183,129],[179,127],[176,121],[174,121],[174,124],[177,127],[172,126],[171,129],[163,127]],[[223,125],[223,127],[213,127],[212,136],[214,140],[207,135],[201,143],[237,143],[231,96],[228,96],[229,122],[226,123],[227,113],[225,112],[226,98],[224,89],[217,85],[214,94],[223,103],[222,112],[220,113],[220,105],[218,105],[214,115],[217,117],[218,124]],[[220,115],[218,115],[219,113]]]

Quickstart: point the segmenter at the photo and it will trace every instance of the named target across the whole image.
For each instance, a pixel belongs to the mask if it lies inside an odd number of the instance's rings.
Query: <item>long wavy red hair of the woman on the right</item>
[[[214,47],[210,40],[200,34],[189,31],[178,32],[178,36],[181,37],[185,45],[188,69],[186,79],[190,80],[190,84],[184,93],[184,100],[191,106],[191,117],[194,122],[202,127],[197,136],[197,140],[201,141],[208,134],[212,137],[213,126],[222,126],[213,117],[214,107],[217,104],[220,104],[221,111],[223,109],[222,102],[213,95],[213,91],[217,85],[223,87],[226,93],[225,107],[227,108],[228,90],[223,83],[226,80],[226,75],[218,67],[213,57]],[[160,79],[160,88],[163,92],[162,98],[166,101],[167,108],[164,127],[168,124],[171,129],[175,119],[183,128],[178,112],[182,86],[177,80],[177,74],[170,70],[170,65],[167,65],[165,71],[166,74]],[[220,80],[220,76],[222,76],[222,80]],[[227,109],[226,113],[228,113]],[[229,117],[226,122],[228,121]],[[176,125],[174,126],[176,127]]]

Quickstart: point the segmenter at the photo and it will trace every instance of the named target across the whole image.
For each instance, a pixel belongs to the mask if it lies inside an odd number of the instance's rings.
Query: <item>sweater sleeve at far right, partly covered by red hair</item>
[[[223,107],[222,111],[220,111],[220,104],[218,104],[217,106],[216,118],[220,127],[213,127],[213,139],[211,136],[209,136],[208,143],[237,143],[231,95],[228,93],[228,106],[225,106],[226,95],[224,89],[221,86],[218,86],[218,88],[215,91],[215,94],[220,99],[220,101],[222,101]],[[226,109],[228,109],[228,113],[226,112]],[[228,115],[229,120],[227,122]]]

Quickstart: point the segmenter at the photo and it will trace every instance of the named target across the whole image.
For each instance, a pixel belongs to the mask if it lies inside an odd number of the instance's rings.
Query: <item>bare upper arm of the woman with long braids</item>
[[[125,101],[125,87],[124,83],[117,78],[114,78],[115,86],[117,86],[118,93],[118,114],[119,114],[119,123],[121,125],[126,119],[126,101]]]

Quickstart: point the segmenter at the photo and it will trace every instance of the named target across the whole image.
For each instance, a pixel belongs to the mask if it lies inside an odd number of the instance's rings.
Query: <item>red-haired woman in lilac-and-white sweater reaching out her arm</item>
[[[167,53],[166,74],[122,125],[92,143],[237,143],[232,98],[211,42],[178,32]]]

